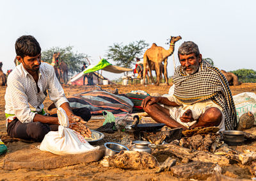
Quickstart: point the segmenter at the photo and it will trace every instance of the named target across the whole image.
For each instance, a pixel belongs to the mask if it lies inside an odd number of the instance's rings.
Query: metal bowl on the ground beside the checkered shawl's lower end
[[[223,130],[223,140],[227,145],[236,146],[244,144],[244,131],[241,130]]]

